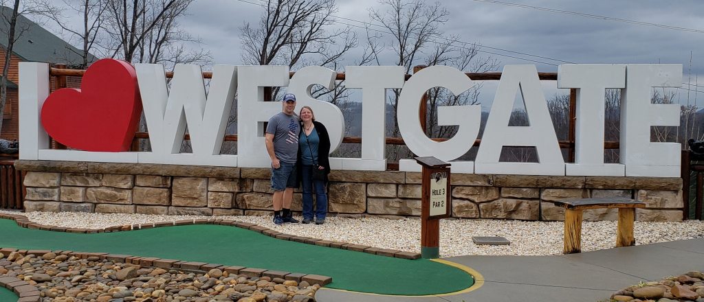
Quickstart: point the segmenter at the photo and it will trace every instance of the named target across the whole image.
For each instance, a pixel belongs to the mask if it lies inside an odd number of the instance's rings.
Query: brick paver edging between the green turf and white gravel
[[[348,249],[350,251],[363,251],[369,254],[375,254],[379,256],[387,256],[394,258],[403,259],[417,259],[420,258],[420,253],[413,253],[410,251],[398,251],[396,249],[381,249],[378,247],[370,247],[367,245],[351,244],[347,242],[338,242],[323,240],[313,237],[296,236],[290,234],[284,234],[278,232],[277,230],[272,230],[270,228],[265,228],[254,223],[245,223],[241,221],[234,221],[230,219],[220,219],[220,218],[210,218],[210,219],[189,219],[183,221],[174,222],[162,222],[162,223],[137,223],[134,225],[121,225],[113,226],[103,229],[84,229],[84,228],[62,228],[53,225],[40,225],[39,223],[33,223],[27,218],[27,216],[19,214],[2,214],[0,213],[0,218],[12,219],[18,225],[23,228],[32,228],[38,230],[53,230],[56,232],[78,232],[78,233],[98,233],[98,232],[121,232],[127,230],[144,230],[148,228],[160,228],[172,225],[199,225],[199,224],[209,224],[209,225],[231,225],[237,228],[244,228],[246,230],[253,230],[255,232],[260,232],[264,235],[274,237],[276,239],[289,240],[295,242],[301,242],[306,244],[315,244],[322,247],[332,247],[336,249]],[[322,284],[321,284],[322,285]]]

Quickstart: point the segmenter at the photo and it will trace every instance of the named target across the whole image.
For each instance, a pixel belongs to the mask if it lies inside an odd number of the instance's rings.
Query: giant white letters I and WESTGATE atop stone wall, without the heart
[[[135,68],[151,152],[49,149],[49,136],[39,116],[49,96],[49,65],[20,63],[20,159],[268,167],[263,122],[280,112],[281,104],[263,101],[263,87],[267,86],[287,86],[287,92],[298,97],[298,106],[313,107],[316,118],[330,133],[331,152],[341,143],[341,111],[310,96],[313,85],[333,87],[336,73],[325,67],[304,67],[289,79],[286,66],[215,65],[207,94],[201,68],[196,65],[177,65],[170,89],[163,66],[137,64]],[[331,158],[332,169],[386,169],[386,89],[403,88],[398,100],[398,126],[403,140],[419,157],[433,156],[451,162],[453,173],[679,177],[680,144],[650,142],[651,126],[679,125],[679,105],[652,104],[650,91],[653,87],[681,86],[681,65],[560,65],[558,88],[577,88],[576,157],[574,163],[567,164],[562,160],[534,65],[504,67],[474,162],[455,159],[470,150],[477,138],[479,105],[438,108],[440,125],[459,126],[458,133],[444,142],[427,138],[418,119],[422,94],[429,88],[445,87],[457,95],[474,82],[460,70],[446,66],[427,67],[408,81],[404,76],[403,67],[346,67],[346,86],[362,92],[362,155]],[[606,88],[622,89],[620,164],[603,162]],[[220,155],[235,93],[238,154]],[[508,126],[516,93],[522,94],[530,126]],[[179,152],[186,127],[192,153]],[[539,162],[499,162],[503,146],[536,147]],[[402,159],[399,167],[401,171],[420,171],[412,159]]]

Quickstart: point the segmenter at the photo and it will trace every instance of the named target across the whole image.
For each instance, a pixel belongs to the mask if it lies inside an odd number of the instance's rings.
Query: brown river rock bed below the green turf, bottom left
[[[306,302],[315,301],[320,288],[306,281],[229,275],[217,268],[208,273],[167,270],[53,252],[0,254],[0,276],[4,275],[37,287],[42,301],[56,302]]]

